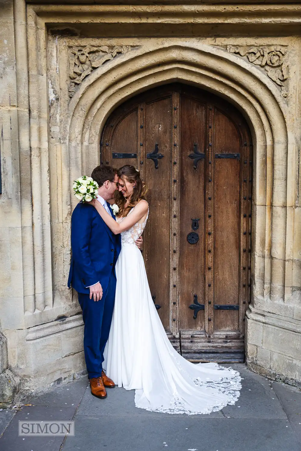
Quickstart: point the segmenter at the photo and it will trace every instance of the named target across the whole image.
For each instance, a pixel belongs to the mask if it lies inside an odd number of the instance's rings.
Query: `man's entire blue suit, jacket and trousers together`
[[[88,377],[98,377],[102,373],[103,351],[114,309],[115,265],[121,238],[111,232],[92,205],[79,202],[71,217],[71,249],[68,287],[78,292],[83,310],[83,349]],[[101,300],[94,301],[87,287],[98,281],[103,295]]]

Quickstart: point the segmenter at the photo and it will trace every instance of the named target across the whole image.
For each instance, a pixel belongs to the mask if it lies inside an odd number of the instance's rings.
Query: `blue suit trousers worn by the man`
[[[103,351],[109,338],[116,291],[113,267],[109,285],[102,299],[94,301],[90,295],[78,293],[83,310],[83,350],[89,379],[102,374]]]

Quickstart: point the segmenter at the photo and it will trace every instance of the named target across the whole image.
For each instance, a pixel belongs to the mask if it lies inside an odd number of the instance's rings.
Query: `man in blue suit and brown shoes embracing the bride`
[[[97,166],[91,177],[99,186],[97,199],[115,219],[107,201],[118,189],[117,171],[111,166]],[[142,239],[136,244],[140,248]],[[106,398],[105,387],[115,387],[102,362],[113,315],[121,238],[111,232],[92,205],[79,202],[71,217],[71,249],[68,287],[72,285],[78,292],[83,310],[83,349],[91,393]]]

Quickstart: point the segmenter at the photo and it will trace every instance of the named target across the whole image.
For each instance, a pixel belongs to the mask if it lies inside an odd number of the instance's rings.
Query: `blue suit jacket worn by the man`
[[[113,212],[111,215],[115,219]],[[79,202],[74,208],[71,249],[68,287],[72,285],[78,293],[88,294],[90,289],[86,287],[99,281],[104,292],[121,250],[121,236],[111,232],[92,205]]]

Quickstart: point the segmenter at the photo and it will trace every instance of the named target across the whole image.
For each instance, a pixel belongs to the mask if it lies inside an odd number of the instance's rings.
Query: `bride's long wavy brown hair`
[[[134,192],[131,195],[129,204],[125,207],[126,198],[117,191],[115,194],[115,202],[119,207],[118,216],[126,216],[131,208],[133,208],[137,203],[143,199],[145,200],[145,194],[148,191],[146,184],[141,180],[139,170],[135,169],[134,166],[125,165],[122,166],[117,171],[117,175],[124,182],[135,183]]]

